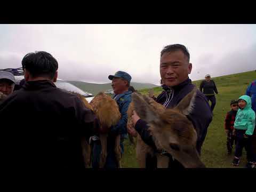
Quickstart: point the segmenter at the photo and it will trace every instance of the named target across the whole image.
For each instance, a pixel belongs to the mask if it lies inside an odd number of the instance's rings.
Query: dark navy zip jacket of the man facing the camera
[[[191,83],[188,78],[185,82],[173,87],[167,87],[162,85],[164,91],[158,95],[156,101],[161,103],[166,108],[173,108],[178,105],[178,103],[194,89],[195,85]],[[207,102],[204,94],[197,91],[195,99],[195,107],[191,114],[187,115],[187,118],[193,123],[195,130],[197,132],[197,143],[196,148],[199,154],[201,154],[201,147],[203,145],[207,127],[212,121],[212,111]],[[156,150],[154,141],[150,133],[148,132],[148,126],[145,121],[139,119],[135,125],[135,130],[140,134],[141,139],[149,146]]]

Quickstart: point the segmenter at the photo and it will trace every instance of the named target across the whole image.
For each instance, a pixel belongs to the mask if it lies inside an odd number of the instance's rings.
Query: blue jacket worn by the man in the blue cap
[[[117,95],[115,94],[114,99],[116,100],[117,105],[119,106],[121,119],[115,126],[111,127],[111,132],[121,134],[121,138],[127,138],[127,129],[126,129],[126,124],[128,121],[127,110],[132,101],[132,92],[126,91],[125,93],[122,93],[122,94],[117,94]]]

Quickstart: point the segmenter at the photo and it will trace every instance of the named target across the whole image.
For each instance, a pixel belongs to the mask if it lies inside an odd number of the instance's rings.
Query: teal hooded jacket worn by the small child
[[[252,110],[251,98],[247,95],[239,97],[246,101],[243,109],[238,109],[234,127],[237,130],[246,130],[246,135],[252,135],[255,127],[255,112]]]

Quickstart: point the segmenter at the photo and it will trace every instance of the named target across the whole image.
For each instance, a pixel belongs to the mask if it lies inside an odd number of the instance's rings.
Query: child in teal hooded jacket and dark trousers
[[[247,161],[253,164],[252,161],[252,147],[250,145],[250,136],[253,134],[255,127],[255,112],[252,110],[251,98],[243,95],[238,99],[239,109],[237,111],[236,120],[234,123],[236,134],[236,150],[233,165],[239,165],[239,157],[242,156],[242,150],[245,147],[247,152]],[[247,163],[247,164],[248,164]]]

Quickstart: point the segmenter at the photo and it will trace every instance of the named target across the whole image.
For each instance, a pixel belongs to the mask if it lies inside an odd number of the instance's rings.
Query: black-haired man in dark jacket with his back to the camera
[[[81,139],[94,134],[98,120],[74,94],[58,89],[58,62],[47,52],[22,60],[26,83],[0,105],[1,159],[6,169],[83,170]],[[2,122],[2,121],[1,121]]]

